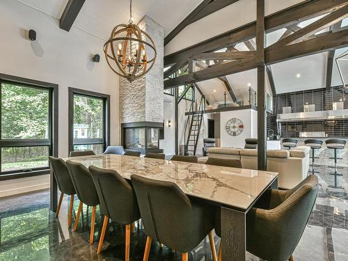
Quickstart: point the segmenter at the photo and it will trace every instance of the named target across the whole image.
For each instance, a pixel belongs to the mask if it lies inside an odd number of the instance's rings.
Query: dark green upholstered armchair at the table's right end
[[[246,250],[264,260],[293,260],[292,253],[317,198],[317,187],[317,177],[309,175],[293,189],[269,189],[246,216]],[[217,213],[215,232],[221,237]]]

